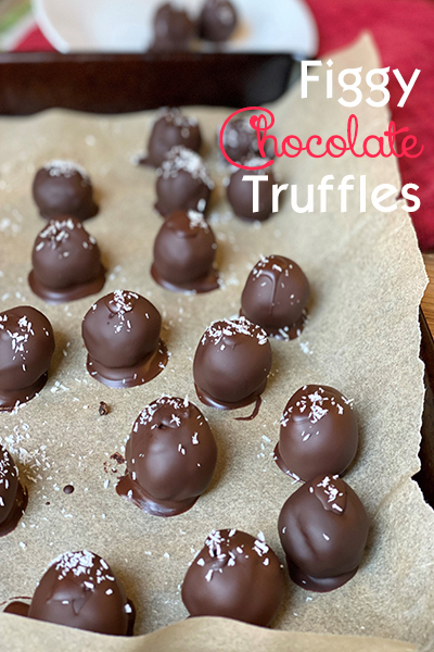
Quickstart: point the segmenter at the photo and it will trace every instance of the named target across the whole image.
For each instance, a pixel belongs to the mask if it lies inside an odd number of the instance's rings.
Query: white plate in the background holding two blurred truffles
[[[61,52],[143,52],[152,18],[165,0],[33,0],[39,27]],[[192,15],[204,0],[183,0]],[[174,3],[174,2],[173,2]],[[228,52],[292,52],[311,57],[318,30],[304,0],[233,0],[240,25]],[[209,50],[209,47],[204,49]]]

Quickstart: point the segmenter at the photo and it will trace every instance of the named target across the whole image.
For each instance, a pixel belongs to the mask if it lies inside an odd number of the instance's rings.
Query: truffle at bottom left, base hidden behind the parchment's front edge
[[[132,634],[135,610],[108,564],[88,550],[51,562],[36,588],[28,617],[112,636]]]

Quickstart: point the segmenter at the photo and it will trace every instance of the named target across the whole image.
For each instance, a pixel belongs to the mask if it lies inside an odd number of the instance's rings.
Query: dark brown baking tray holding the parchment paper
[[[52,108],[113,114],[186,104],[260,106],[279,99],[298,75],[289,53],[0,53],[0,115]],[[434,507],[434,340],[422,310],[420,324],[426,393],[414,479]]]

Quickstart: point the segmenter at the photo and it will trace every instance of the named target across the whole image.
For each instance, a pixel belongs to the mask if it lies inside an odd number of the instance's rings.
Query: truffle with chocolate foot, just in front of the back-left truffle
[[[76,217],[51,220],[35,240],[31,262],[28,283],[48,303],[95,294],[105,283],[97,240]]]

